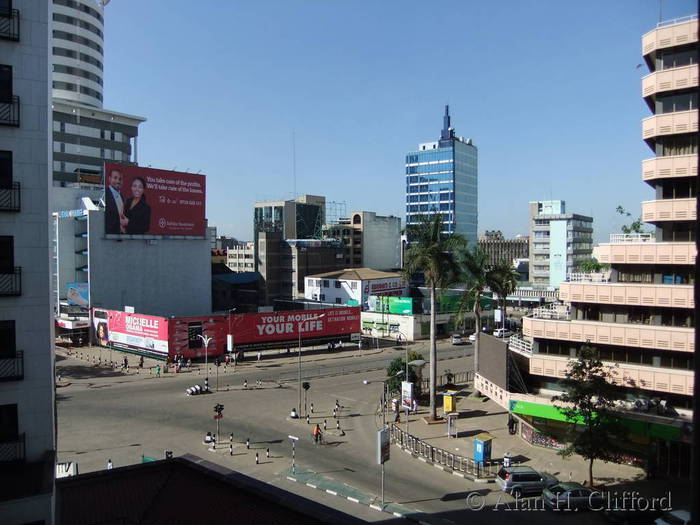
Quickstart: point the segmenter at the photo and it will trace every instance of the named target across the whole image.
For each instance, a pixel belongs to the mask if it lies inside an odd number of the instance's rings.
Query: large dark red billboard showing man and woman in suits
[[[105,163],[105,233],[205,234],[205,177]]]

